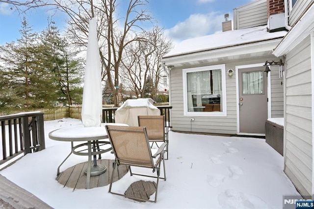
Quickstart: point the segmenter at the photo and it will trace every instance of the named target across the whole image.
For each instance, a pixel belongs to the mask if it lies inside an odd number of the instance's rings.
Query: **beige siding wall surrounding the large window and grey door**
[[[226,65],[226,91],[227,91],[227,117],[209,117],[209,116],[183,116],[183,72],[181,68],[173,68],[171,73],[171,124],[173,131],[195,131],[207,133],[226,133],[236,134],[236,84],[235,72],[232,77],[228,76],[228,69],[235,71],[237,65],[249,65],[256,63],[264,63],[266,60],[276,59],[273,55],[264,56],[260,58],[247,58],[241,60],[229,60],[227,62],[213,62],[208,65],[225,64]],[[185,68],[201,67],[206,65],[186,66]],[[279,69],[272,68],[271,79],[278,78]],[[283,85],[280,85],[281,80],[274,79],[272,81],[272,105],[274,110],[272,113],[275,117],[283,117]],[[282,90],[278,90],[282,88]],[[280,99],[281,98],[281,99]],[[281,101],[280,101],[281,100]],[[194,118],[194,121],[190,121]]]

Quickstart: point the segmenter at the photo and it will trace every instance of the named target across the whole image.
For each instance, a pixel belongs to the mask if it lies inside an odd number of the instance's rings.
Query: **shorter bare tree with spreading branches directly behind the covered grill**
[[[162,32],[155,26],[152,31],[145,32],[147,41],[133,42],[127,48],[128,52],[123,60],[124,79],[129,81],[129,88],[133,89],[137,97],[144,97],[148,85],[152,85],[151,97],[156,100],[158,84],[163,76],[160,60],[172,47]],[[150,80],[149,83],[148,80]]]

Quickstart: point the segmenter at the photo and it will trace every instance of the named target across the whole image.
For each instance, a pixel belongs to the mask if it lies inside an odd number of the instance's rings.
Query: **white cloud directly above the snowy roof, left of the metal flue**
[[[192,14],[184,22],[166,29],[165,34],[174,43],[184,39],[204,36],[222,31],[222,22],[225,21],[224,14],[220,12],[210,12],[208,14]]]

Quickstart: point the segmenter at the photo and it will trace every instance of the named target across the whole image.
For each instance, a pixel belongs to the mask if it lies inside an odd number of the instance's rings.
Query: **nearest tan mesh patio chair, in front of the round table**
[[[159,178],[166,181],[164,148],[167,143],[160,145],[157,152],[152,155],[150,144],[148,141],[147,131],[145,127],[131,126],[110,126],[106,125],[105,129],[108,134],[109,141],[112,146],[112,151],[115,156],[113,164],[112,176],[110,180],[109,192],[112,194],[128,197],[140,201],[155,202],[157,201],[157,191]],[[163,163],[164,177],[160,177],[160,164]],[[147,200],[137,197],[132,197],[126,194],[115,193],[111,191],[114,172],[119,165],[127,165],[130,174],[157,178],[155,200]],[[156,176],[148,176],[143,174],[135,174],[131,171],[131,166],[151,168],[153,173],[156,171]]]

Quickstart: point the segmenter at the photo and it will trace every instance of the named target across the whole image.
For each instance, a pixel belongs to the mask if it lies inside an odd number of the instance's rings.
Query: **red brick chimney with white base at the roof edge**
[[[285,30],[285,0],[267,0],[267,17],[269,32]]]

